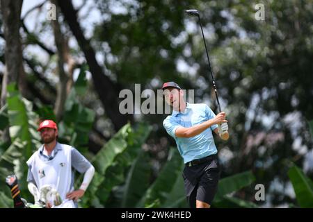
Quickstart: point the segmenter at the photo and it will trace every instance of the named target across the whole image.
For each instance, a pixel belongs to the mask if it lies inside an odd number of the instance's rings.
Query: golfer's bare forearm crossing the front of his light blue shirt
[[[175,131],[175,135],[177,137],[194,137],[195,135],[199,135],[200,133],[202,133],[204,130],[206,130],[207,128],[209,128],[210,126],[216,124],[214,122],[213,119],[209,119],[203,123],[200,123],[199,125],[196,126],[191,126],[188,128],[184,128],[184,127],[179,127],[177,128],[177,130]]]

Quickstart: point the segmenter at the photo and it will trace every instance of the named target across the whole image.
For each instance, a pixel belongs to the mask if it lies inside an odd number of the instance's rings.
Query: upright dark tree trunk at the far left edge
[[[17,83],[22,96],[27,97],[26,75],[22,60],[22,46],[19,38],[20,16],[23,1],[1,0],[4,38],[6,39],[6,71],[1,90],[1,106],[6,102],[6,86]]]

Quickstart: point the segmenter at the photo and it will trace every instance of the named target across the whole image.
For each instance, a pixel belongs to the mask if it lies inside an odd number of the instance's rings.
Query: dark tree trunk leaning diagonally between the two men
[[[72,1],[58,0],[58,6],[61,8],[67,24],[69,24],[72,33],[76,37],[77,42],[86,57],[90,72],[93,76],[95,90],[99,96],[100,101],[102,101],[102,104],[104,105],[106,114],[111,119],[115,130],[119,130],[127,123],[127,121],[133,120],[132,114],[120,114],[118,109],[118,94],[120,89],[110,80],[108,76],[104,74],[102,67],[100,67],[97,63],[95,58],[95,51],[90,45],[90,41],[86,40],[85,36],[83,35],[83,31],[79,26],[77,21],[77,11],[74,10]]]

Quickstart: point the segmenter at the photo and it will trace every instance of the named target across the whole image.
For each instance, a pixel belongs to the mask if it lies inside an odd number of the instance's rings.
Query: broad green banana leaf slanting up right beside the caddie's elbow
[[[152,128],[145,124],[135,130],[128,123],[122,127],[93,157],[96,178],[90,183],[81,206],[91,203],[94,207],[106,206],[106,201],[114,187],[125,183],[127,171],[134,163],[142,144],[150,135]]]

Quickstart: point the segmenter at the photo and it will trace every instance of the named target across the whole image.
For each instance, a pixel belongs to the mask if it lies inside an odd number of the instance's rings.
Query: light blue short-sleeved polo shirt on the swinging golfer
[[[215,116],[209,106],[203,103],[187,103],[184,112],[173,110],[172,115],[164,119],[163,126],[166,132],[175,139],[178,151],[184,158],[184,163],[218,152],[212,135],[212,130],[215,130],[218,126],[212,125],[199,135],[190,138],[176,137],[175,130],[179,126],[188,128],[198,125],[208,119],[213,119]]]

